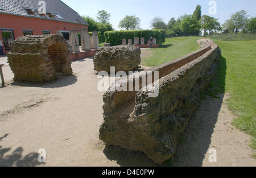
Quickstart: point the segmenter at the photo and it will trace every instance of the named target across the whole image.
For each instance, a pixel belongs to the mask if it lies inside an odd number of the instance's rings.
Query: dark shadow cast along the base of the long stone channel
[[[213,87],[218,87],[225,92],[225,80],[226,59],[221,56],[216,79],[214,80],[215,86]],[[200,167],[203,165],[205,154],[209,150],[223,98],[224,94],[220,93],[217,98],[206,96],[205,100],[201,100],[184,133],[180,136],[180,143],[177,145],[175,155],[163,164],[155,164],[140,151],[127,151],[119,146],[106,146],[104,154],[109,160],[116,160],[117,164],[123,167]]]

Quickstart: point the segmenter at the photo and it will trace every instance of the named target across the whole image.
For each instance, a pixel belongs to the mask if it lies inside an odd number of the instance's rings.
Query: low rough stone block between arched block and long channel
[[[141,64],[141,49],[134,45],[99,48],[93,62],[95,71],[110,72],[110,67],[115,67],[115,72],[133,71]]]

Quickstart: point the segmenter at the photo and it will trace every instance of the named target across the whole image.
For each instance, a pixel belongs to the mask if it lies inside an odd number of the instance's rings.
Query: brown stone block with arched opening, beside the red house
[[[14,81],[47,82],[56,73],[72,74],[68,44],[60,35],[20,36],[11,45],[8,62]]]

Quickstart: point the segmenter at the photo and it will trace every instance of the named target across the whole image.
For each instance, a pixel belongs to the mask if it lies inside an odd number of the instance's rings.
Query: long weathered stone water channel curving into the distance
[[[155,163],[170,159],[199,104],[200,93],[214,77],[221,55],[216,44],[201,42],[205,47],[199,51],[150,69],[159,72],[159,87],[152,80],[154,90],[159,89],[156,97],[149,97],[152,90],[141,83],[138,92],[118,92],[112,85],[103,97],[100,139],[109,145],[142,151]],[[123,85],[123,78],[118,82]]]

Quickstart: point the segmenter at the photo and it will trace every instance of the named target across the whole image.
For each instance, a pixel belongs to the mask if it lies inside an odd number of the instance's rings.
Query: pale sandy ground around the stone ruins
[[[0,58],[0,63],[6,57]],[[157,166],[142,152],[105,146],[98,139],[102,95],[92,59],[72,63],[73,75],[44,85],[13,82],[3,67],[0,88],[0,166]],[[234,129],[234,115],[221,99],[202,101],[177,147],[176,166],[255,166],[250,137]],[[46,163],[38,150],[46,150]],[[215,148],[217,163],[209,163]],[[162,164],[166,165],[166,164]]]

